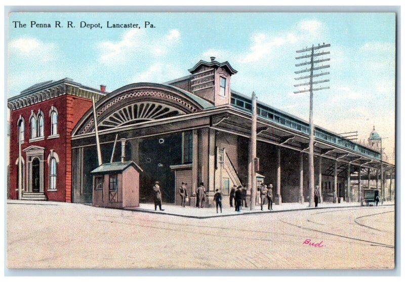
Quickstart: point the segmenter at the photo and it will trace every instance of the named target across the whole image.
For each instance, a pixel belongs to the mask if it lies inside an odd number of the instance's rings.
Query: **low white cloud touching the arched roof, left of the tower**
[[[130,83],[135,82],[165,82],[173,78],[181,77],[182,71],[172,65],[156,63],[146,71],[134,75]]]

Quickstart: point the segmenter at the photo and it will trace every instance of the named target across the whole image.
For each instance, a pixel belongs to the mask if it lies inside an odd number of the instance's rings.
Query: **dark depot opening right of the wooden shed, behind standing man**
[[[175,202],[175,175],[171,165],[181,164],[182,134],[174,133],[143,139],[139,144],[139,164],[143,169],[140,181],[140,202],[153,202],[152,187],[160,182],[162,201]]]

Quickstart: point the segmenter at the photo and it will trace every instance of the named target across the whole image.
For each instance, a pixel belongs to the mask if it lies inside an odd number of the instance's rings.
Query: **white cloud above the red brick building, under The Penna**
[[[57,58],[57,45],[34,37],[20,37],[9,42],[9,54],[15,59],[49,62]]]

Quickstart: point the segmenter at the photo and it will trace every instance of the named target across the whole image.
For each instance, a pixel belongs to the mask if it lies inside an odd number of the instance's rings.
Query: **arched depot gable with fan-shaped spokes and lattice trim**
[[[189,114],[213,107],[181,88],[158,83],[133,83],[120,87],[96,103],[99,130],[148,120]],[[79,120],[73,136],[94,131],[93,108]]]

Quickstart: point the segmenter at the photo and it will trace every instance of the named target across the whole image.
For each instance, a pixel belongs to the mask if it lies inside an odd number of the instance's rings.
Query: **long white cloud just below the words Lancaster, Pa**
[[[98,44],[99,60],[104,64],[122,63],[140,56],[163,56],[180,41],[180,32],[170,30],[163,37],[153,37],[144,29],[131,29],[118,41],[102,41]]]

